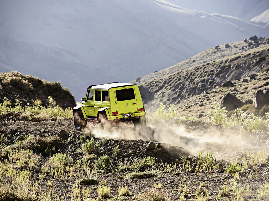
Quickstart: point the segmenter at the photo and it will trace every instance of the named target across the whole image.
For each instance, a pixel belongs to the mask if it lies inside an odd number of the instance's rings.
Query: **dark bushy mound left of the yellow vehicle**
[[[33,105],[33,101],[42,101],[43,106],[48,106],[48,97],[51,96],[56,105],[63,108],[74,107],[75,98],[68,88],[63,87],[59,82],[41,80],[31,75],[22,75],[20,72],[0,74],[0,102],[3,98],[11,101],[12,106],[16,101]]]

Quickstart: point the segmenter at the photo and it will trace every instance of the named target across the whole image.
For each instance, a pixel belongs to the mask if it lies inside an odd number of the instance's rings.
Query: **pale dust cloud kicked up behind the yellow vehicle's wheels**
[[[221,160],[234,160],[245,154],[245,150],[263,151],[268,153],[267,143],[259,145],[253,136],[248,133],[240,133],[233,129],[224,129],[217,126],[197,126],[186,124],[176,125],[168,122],[157,124],[147,120],[147,128],[138,131],[132,122],[119,122],[118,124],[105,124],[103,128],[99,125],[93,126],[91,132],[98,138],[144,140],[152,142],[168,143],[179,146],[189,151],[191,155],[198,155],[199,151],[213,151],[213,156]],[[194,122],[195,124],[195,122]],[[198,126],[200,124],[200,126]],[[255,137],[256,139],[256,137]]]

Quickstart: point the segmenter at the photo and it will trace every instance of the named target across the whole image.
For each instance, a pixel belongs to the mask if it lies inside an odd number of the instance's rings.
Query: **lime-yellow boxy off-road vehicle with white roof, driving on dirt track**
[[[136,128],[146,126],[146,112],[137,84],[91,85],[81,101],[73,109],[78,131],[86,127],[87,120],[97,120],[101,127],[118,121],[133,121]]]

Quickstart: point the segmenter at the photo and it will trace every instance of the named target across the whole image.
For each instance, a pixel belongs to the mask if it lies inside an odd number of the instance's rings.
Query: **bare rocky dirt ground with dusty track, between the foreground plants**
[[[144,158],[148,156],[155,157],[156,164],[167,163],[176,164],[179,168],[184,167],[187,161],[193,166],[197,162],[199,151],[213,151],[215,160],[221,164],[220,169],[210,172],[196,172],[192,169],[186,172],[182,169],[183,174],[173,175],[172,172],[162,173],[160,178],[130,178],[119,179],[119,176],[124,176],[122,173],[99,173],[98,182],[103,179],[107,180],[110,188],[110,198],[117,196],[117,191],[120,186],[128,186],[132,194],[142,192],[147,188],[151,188],[153,184],[162,184],[162,188],[167,190],[171,200],[178,200],[181,191],[179,190],[180,183],[187,188],[188,195],[186,200],[193,199],[197,192],[200,183],[204,183],[205,189],[209,193],[209,200],[216,200],[218,189],[224,184],[232,185],[231,180],[227,180],[225,176],[231,176],[224,173],[223,166],[228,162],[237,159],[239,162],[245,155],[245,150],[262,151],[265,149],[268,153],[269,137],[267,132],[240,133],[237,128],[222,128],[212,126],[208,123],[196,121],[183,121],[179,124],[178,120],[170,122],[154,123],[148,122],[148,129],[145,132],[138,132],[134,129],[131,123],[122,123],[116,126],[111,126],[105,130],[100,130],[95,121],[89,121],[87,128],[83,132],[76,131],[73,127],[73,120],[56,120],[43,122],[30,121],[15,121],[12,117],[2,118],[0,124],[0,134],[7,137],[8,144],[13,144],[16,135],[59,135],[59,131],[65,130],[61,137],[60,146],[57,147],[57,153],[63,153],[72,156],[73,163],[85,157],[82,150],[83,141],[81,136],[84,133],[88,134],[88,139],[94,138],[96,141],[103,140],[102,149],[95,152],[96,157],[107,154],[113,165],[117,165],[126,159]],[[149,147],[149,143],[154,142],[153,147]],[[159,144],[160,149],[155,149],[155,143]],[[113,148],[118,147],[118,153],[113,153]],[[158,150],[158,151],[157,151]],[[194,157],[196,155],[196,157]],[[45,157],[45,156],[42,156]],[[222,157],[222,158],[221,158]],[[266,155],[267,157],[267,155]],[[91,162],[93,163],[92,158]],[[223,161],[222,161],[223,159]],[[223,164],[223,166],[222,166]],[[145,169],[147,167],[144,167]],[[267,175],[268,165],[257,164],[255,167],[249,167],[254,171],[253,176],[245,172],[240,174],[240,179],[237,180],[245,189],[247,185],[252,189],[252,195],[257,195],[257,189],[269,180]],[[38,180],[40,172],[33,171],[33,177]],[[40,188],[48,188],[47,182],[51,180],[47,176],[45,180],[39,180]],[[62,197],[62,200],[71,200],[73,198],[72,187],[76,184],[75,178],[57,179],[55,181],[56,191]],[[91,197],[97,198],[95,185],[87,185],[92,189]],[[116,186],[116,187],[115,187]],[[54,188],[55,188],[54,187]],[[232,192],[232,190],[230,190]],[[268,194],[269,195],[269,194]],[[248,195],[246,195],[248,196]],[[251,195],[249,195],[251,196]],[[230,196],[222,197],[224,200],[231,198]],[[128,196],[127,200],[131,200],[132,196]]]

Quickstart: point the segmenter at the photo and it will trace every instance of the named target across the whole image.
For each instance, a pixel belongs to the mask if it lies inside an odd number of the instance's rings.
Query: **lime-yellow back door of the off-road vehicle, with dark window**
[[[118,114],[137,112],[137,101],[134,86],[114,88]]]

